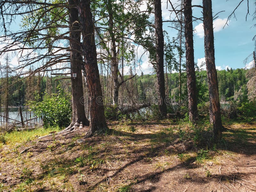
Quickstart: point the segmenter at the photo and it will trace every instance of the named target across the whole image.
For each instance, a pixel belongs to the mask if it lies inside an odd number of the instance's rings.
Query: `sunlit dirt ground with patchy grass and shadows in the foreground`
[[[84,128],[4,145],[0,191],[256,190],[256,124],[228,125],[220,146],[203,149],[185,126],[169,122],[111,122],[109,128],[110,134],[88,139]]]

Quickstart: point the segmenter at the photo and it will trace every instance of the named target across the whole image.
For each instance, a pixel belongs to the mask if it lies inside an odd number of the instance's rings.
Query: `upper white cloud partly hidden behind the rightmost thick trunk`
[[[227,22],[227,18],[225,19],[216,19],[213,21],[213,31],[216,33],[218,31],[221,31],[225,25],[225,23]],[[228,22],[229,23],[229,22]],[[195,34],[197,36],[199,36],[200,38],[204,37],[204,24],[203,23],[199,23],[196,27],[195,27]]]

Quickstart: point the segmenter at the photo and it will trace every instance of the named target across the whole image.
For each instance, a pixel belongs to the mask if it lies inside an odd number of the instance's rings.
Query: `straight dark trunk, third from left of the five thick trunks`
[[[156,78],[159,112],[166,116],[167,108],[165,103],[164,86],[164,34],[161,0],[155,0],[155,26],[156,26]]]

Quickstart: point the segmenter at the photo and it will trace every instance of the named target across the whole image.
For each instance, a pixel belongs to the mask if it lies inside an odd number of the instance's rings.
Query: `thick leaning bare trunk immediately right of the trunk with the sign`
[[[76,0],[76,2],[83,36],[82,47],[88,97],[90,98],[90,129],[86,134],[86,137],[90,137],[95,134],[105,133],[108,126],[104,115],[90,0]]]

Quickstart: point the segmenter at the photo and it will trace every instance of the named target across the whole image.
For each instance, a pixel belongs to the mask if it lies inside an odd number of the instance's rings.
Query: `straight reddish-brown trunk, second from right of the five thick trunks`
[[[196,74],[194,61],[194,42],[192,25],[191,0],[184,1],[184,22],[186,39],[186,66],[187,66],[187,85],[188,85],[188,113],[189,120],[194,122],[197,119],[197,100],[196,100]]]

